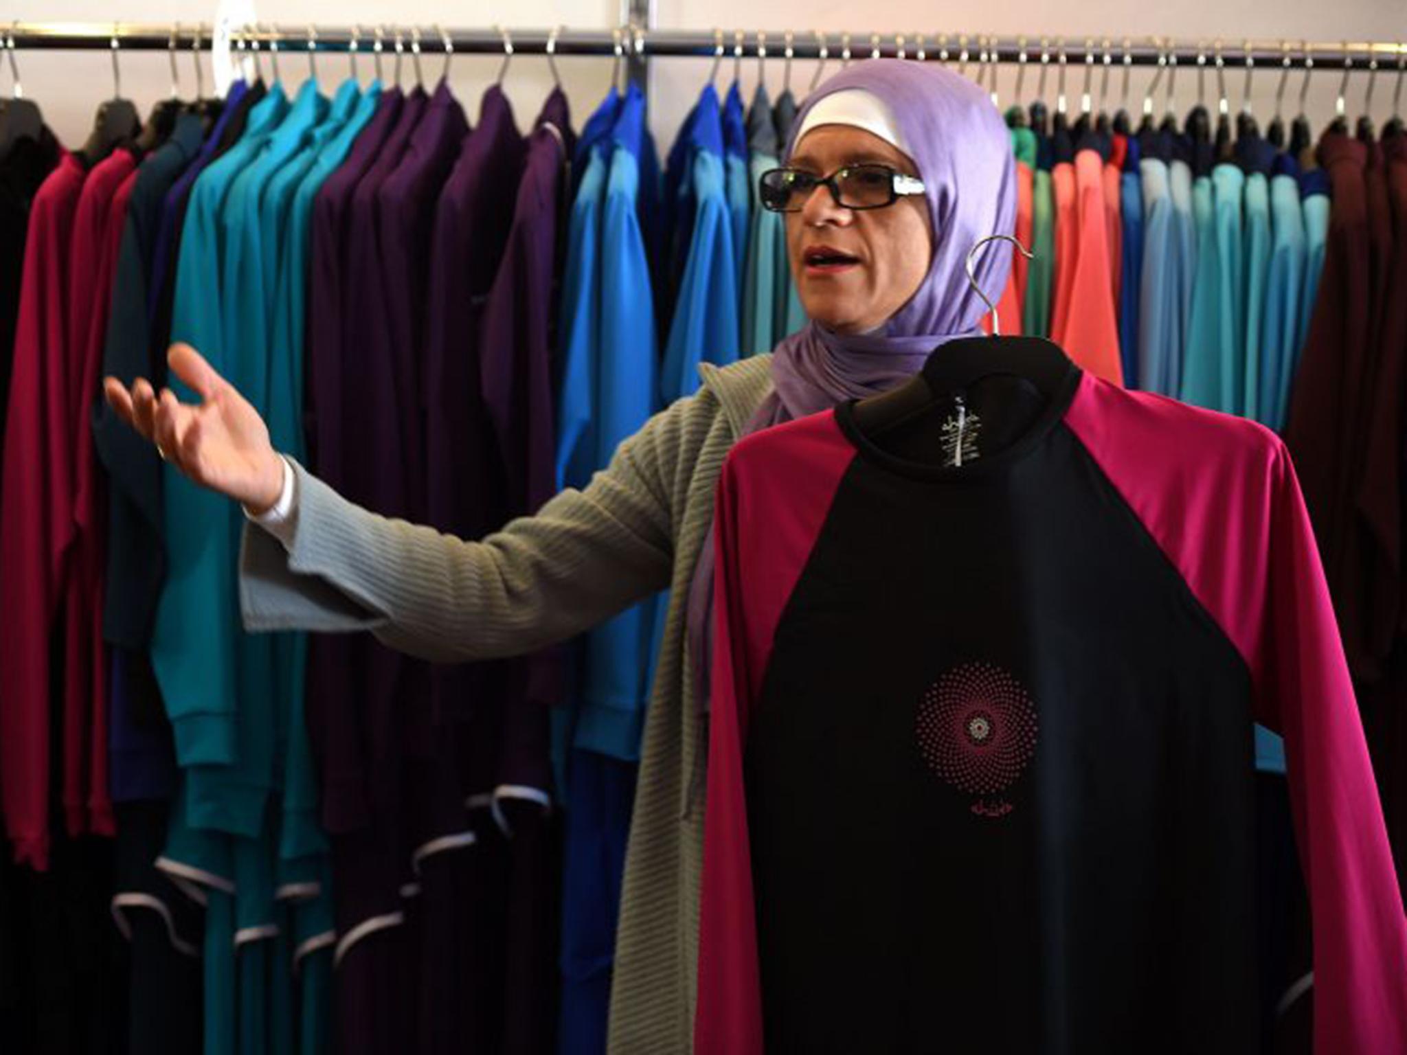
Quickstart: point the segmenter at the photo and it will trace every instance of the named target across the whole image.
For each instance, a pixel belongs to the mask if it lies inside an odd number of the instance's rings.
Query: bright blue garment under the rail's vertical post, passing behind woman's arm
[[[598,449],[592,471],[602,468],[657,409],[654,297],[639,222],[643,136],[644,94],[632,84],[611,132],[602,207],[592,415]],[[570,482],[580,487],[585,481]],[[650,639],[656,613],[657,599],[650,598],[587,636],[573,741],[577,748],[639,761],[654,665]]]

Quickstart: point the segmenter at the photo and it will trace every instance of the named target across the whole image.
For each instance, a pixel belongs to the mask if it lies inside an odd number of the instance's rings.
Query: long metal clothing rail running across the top
[[[651,56],[712,59],[795,58],[848,62],[865,58],[909,58],[967,63],[1029,63],[1033,66],[1178,66],[1227,69],[1304,69],[1399,72],[1407,66],[1407,42],[1384,41],[1176,41],[1128,37],[995,37],[954,32],[822,32],[822,31],[680,31],[620,27],[618,30],[497,30],[438,25],[259,25],[234,30],[236,41],[259,51],[529,55],[615,55],[633,60]],[[207,28],[153,23],[14,23],[0,37],[15,51],[165,51],[208,44]]]

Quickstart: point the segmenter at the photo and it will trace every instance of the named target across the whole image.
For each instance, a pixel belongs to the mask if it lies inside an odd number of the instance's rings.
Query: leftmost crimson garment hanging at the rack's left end
[[[0,779],[15,859],[49,858],[49,634],[73,529],[68,256],[86,179],[65,153],[34,196],[15,324],[0,499]]]

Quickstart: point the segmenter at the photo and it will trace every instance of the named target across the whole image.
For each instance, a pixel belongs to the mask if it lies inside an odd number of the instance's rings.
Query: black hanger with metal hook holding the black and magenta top
[[[974,293],[992,311],[992,335],[947,340],[933,350],[923,369],[908,381],[854,404],[854,423],[867,436],[912,425],[934,411],[957,409],[962,414],[968,390],[996,377],[1014,378],[1026,401],[1037,397],[1045,402],[1055,395],[1071,374],[1069,357],[1045,338],[1002,336],[996,305],[978,286],[972,257],[996,241],[1012,245],[1027,259],[1031,253],[1012,235],[988,235],[968,250],[967,276]]]

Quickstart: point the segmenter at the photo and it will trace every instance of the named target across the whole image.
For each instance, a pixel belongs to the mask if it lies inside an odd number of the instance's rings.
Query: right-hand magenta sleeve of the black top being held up
[[[1285,445],[1255,422],[1089,376],[1065,421],[1241,653],[1256,720],[1285,736],[1314,928],[1314,1049],[1407,1052],[1407,919]]]

